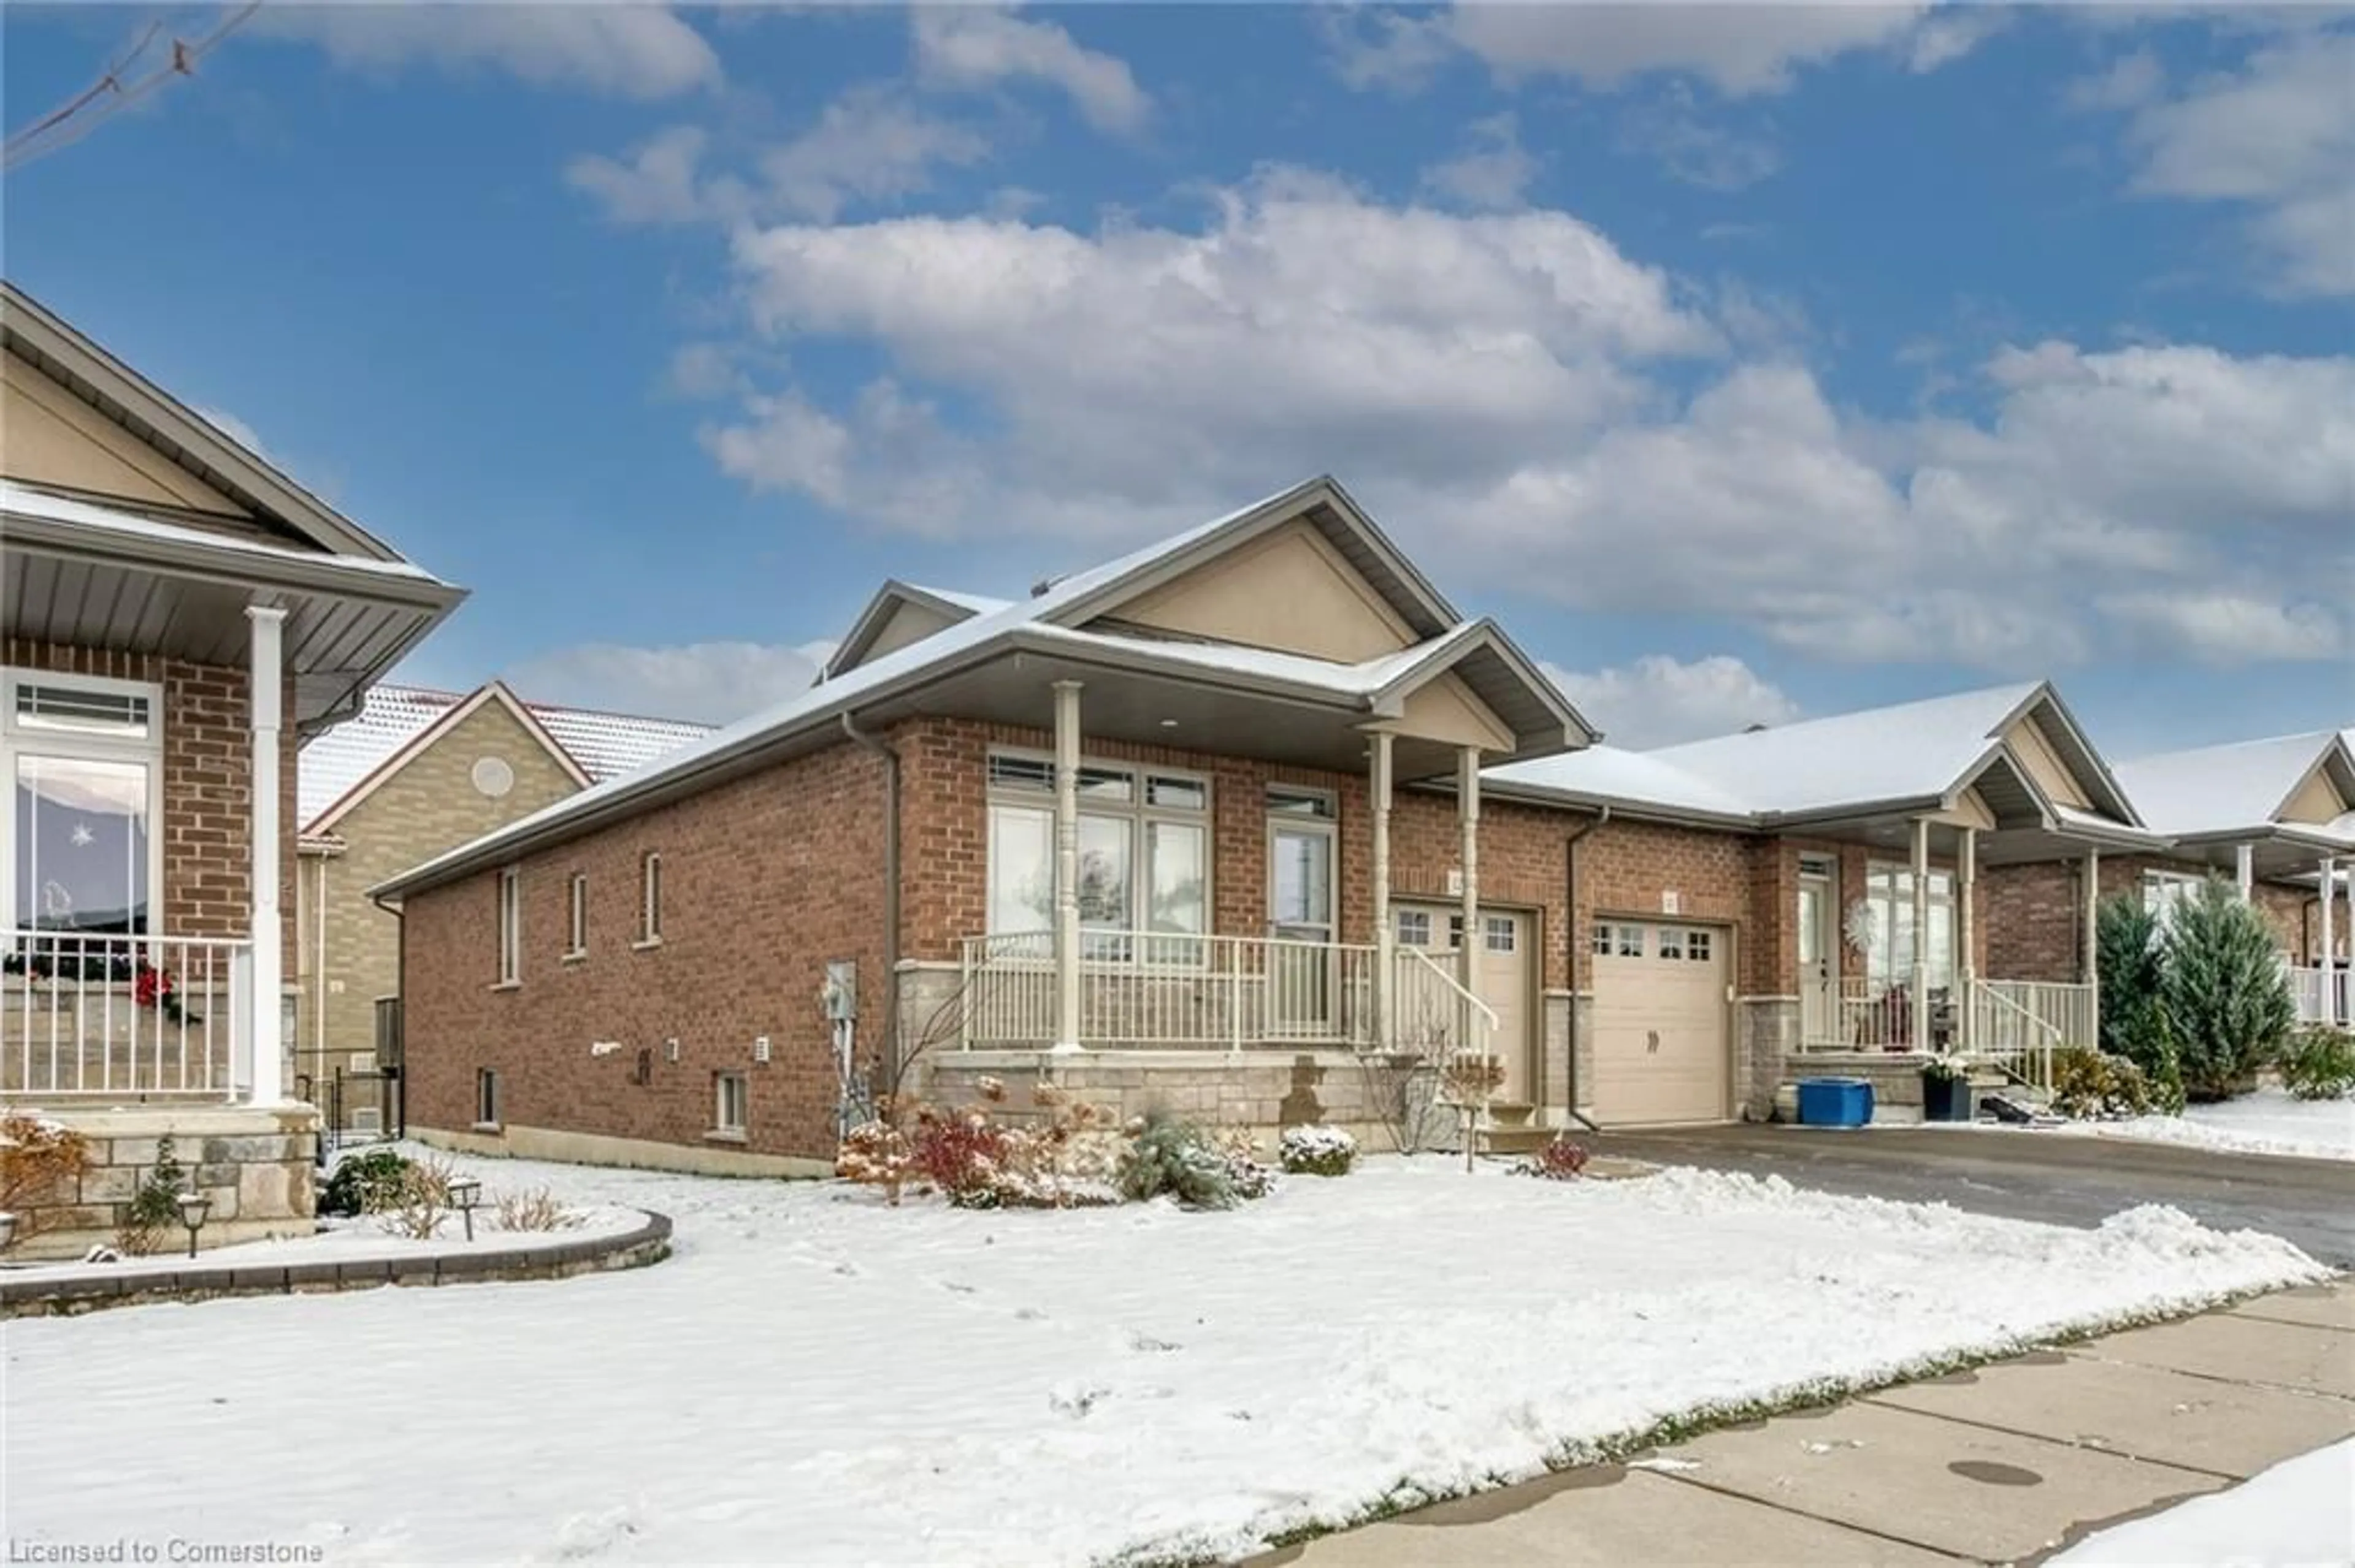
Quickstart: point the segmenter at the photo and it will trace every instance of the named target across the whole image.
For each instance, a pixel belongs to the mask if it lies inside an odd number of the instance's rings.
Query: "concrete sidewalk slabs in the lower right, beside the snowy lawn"
[[[2032,1563],[2355,1436],[2355,1283],[1710,1431],[1255,1563]]]

